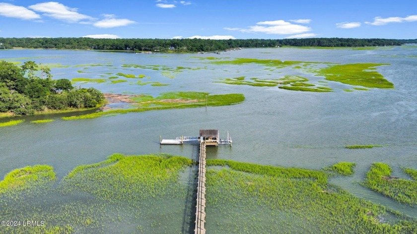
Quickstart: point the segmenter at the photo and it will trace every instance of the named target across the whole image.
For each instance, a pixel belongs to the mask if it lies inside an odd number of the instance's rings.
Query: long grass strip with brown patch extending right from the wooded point
[[[123,109],[123,110],[110,110],[106,112],[96,112],[81,116],[63,117],[64,120],[73,119],[86,119],[97,118],[102,116],[114,115],[114,114],[126,114],[134,112],[145,112],[165,109],[183,109],[183,108],[197,108],[206,106],[227,106],[241,103],[245,100],[243,94],[220,94],[209,95],[209,93],[203,92],[168,92],[162,93],[158,97],[152,97],[149,95],[143,95],[140,97],[132,98],[136,101],[135,109]]]

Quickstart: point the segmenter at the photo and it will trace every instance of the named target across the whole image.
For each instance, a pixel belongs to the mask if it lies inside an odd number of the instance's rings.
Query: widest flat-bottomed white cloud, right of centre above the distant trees
[[[240,31],[246,33],[266,33],[266,34],[300,34],[311,31],[310,27],[292,24],[284,20],[261,21],[255,26],[245,28],[224,28],[231,31]]]

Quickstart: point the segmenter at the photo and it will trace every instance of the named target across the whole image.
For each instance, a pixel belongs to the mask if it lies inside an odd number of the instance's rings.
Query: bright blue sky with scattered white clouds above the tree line
[[[417,0],[0,0],[0,38],[417,39]]]

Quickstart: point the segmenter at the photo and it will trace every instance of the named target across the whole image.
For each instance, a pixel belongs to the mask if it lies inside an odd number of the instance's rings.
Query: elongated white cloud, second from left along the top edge
[[[70,8],[59,2],[43,2],[29,6],[30,9],[43,12],[44,15],[69,23],[77,23],[81,20],[93,20],[92,17],[77,12],[77,8]]]

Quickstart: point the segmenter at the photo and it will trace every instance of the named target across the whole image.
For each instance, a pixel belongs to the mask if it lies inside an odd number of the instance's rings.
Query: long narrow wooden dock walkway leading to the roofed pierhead
[[[200,142],[199,181],[197,185],[197,212],[195,234],[205,234],[206,229],[206,142]]]

